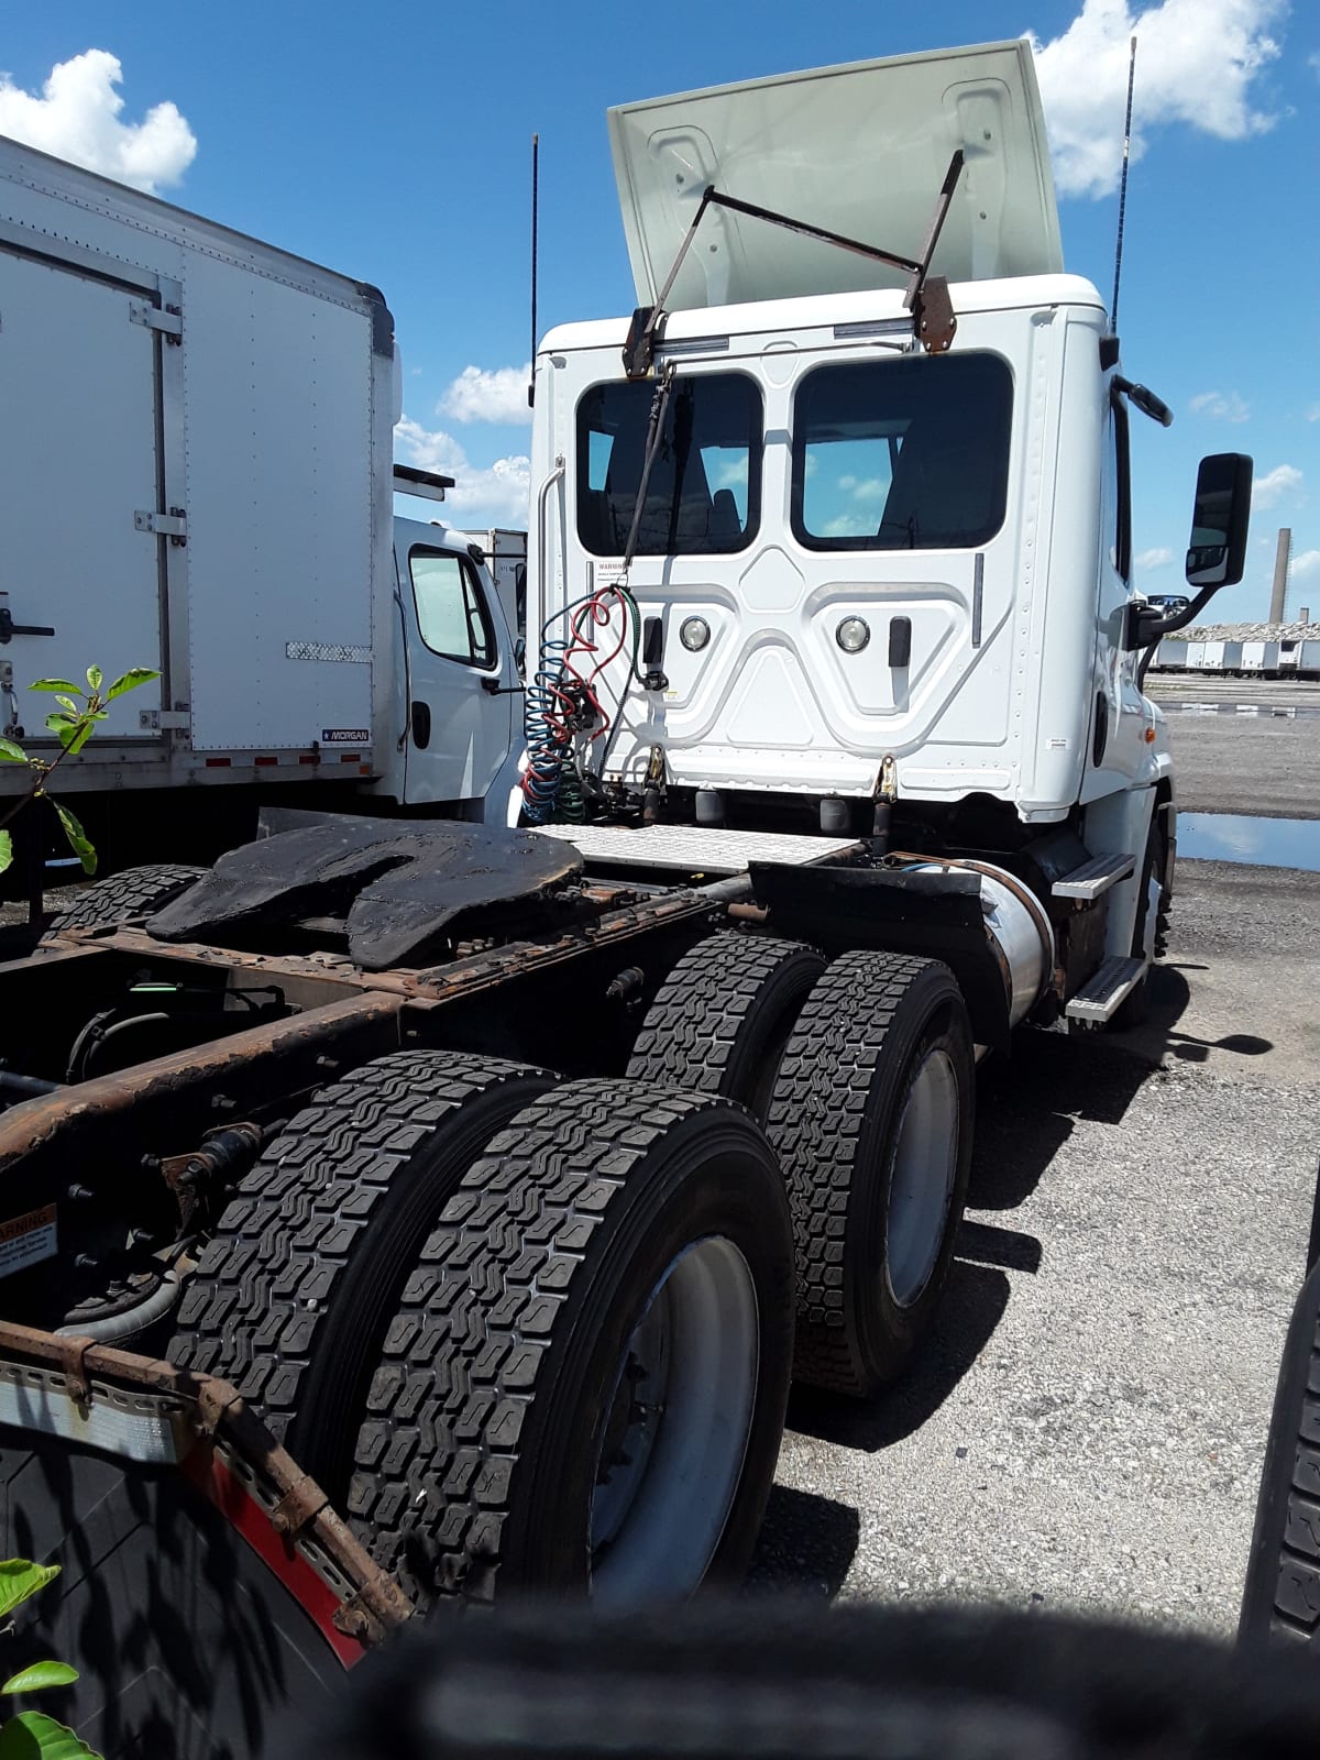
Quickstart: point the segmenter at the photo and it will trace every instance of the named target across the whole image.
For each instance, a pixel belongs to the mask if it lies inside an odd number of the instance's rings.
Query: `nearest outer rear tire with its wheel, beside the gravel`
[[[794,1251],[727,1100],[579,1081],[465,1176],[389,1329],[348,1514],[419,1603],[674,1600],[746,1572]]]

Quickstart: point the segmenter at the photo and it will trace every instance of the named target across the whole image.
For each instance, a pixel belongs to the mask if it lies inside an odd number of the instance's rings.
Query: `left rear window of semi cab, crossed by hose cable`
[[[646,459],[655,387],[593,385],[577,405],[577,537],[621,556]],[[676,378],[651,466],[639,556],[746,549],[760,523],[760,389],[744,373]]]

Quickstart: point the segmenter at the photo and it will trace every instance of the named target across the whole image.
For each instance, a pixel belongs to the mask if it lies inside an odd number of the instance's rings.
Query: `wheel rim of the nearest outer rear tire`
[[[743,1477],[760,1357],[757,1287],[723,1236],[669,1262],[614,1375],[597,1450],[591,1593],[692,1595]]]

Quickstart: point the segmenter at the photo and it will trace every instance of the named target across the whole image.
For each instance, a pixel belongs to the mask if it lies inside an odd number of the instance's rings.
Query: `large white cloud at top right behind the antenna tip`
[[[1123,165],[1128,40],[1137,37],[1132,158],[1149,130],[1186,123],[1243,141],[1274,118],[1251,107],[1251,86],[1278,53],[1269,25],[1287,0],[1084,0],[1061,37],[1030,33],[1060,195],[1109,195]]]

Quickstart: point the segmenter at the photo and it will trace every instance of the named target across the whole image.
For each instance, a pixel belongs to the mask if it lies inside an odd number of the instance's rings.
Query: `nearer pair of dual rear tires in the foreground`
[[[686,1596],[752,1558],[792,1283],[741,1109],[401,1052],[245,1176],[169,1355],[238,1385],[419,1605]]]

